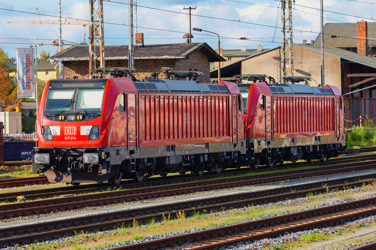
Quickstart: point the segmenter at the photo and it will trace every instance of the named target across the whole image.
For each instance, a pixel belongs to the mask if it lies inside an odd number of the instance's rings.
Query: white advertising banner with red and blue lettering
[[[18,98],[35,99],[34,48],[16,48]]]

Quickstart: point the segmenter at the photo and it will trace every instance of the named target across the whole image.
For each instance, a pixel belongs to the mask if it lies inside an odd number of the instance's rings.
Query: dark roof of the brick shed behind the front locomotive
[[[133,46],[135,59],[148,57],[188,58],[193,52],[200,50],[209,57],[209,61],[226,61],[207,43],[174,43]],[[99,46],[96,46],[99,55]],[[106,59],[127,59],[128,45],[105,45]],[[51,57],[55,61],[89,60],[88,45],[73,45]]]

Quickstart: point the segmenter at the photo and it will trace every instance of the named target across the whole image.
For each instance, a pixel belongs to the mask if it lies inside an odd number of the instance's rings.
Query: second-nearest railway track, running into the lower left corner
[[[80,231],[104,231],[120,226],[132,226],[133,219],[138,223],[147,223],[150,220],[162,220],[164,216],[162,212],[164,212],[165,215],[170,214],[171,218],[175,218],[179,210],[184,210],[185,214],[189,216],[197,212],[205,213],[205,211],[223,211],[230,208],[245,207],[251,204],[262,204],[266,202],[283,201],[288,198],[305,197],[308,193],[325,192],[325,184],[330,189],[342,189],[344,183],[346,183],[348,187],[361,186],[363,183],[373,181],[374,178],[376,178],[376,174],[363,175],[360,177],[362,179],[361,181],[357,180],[358,178],[359,177],[346,177],[337,180],[318,181],[289,187],[278,187],[276,189],[231,194],[176,202],[173,204],[162,204],[151,207],[53,220],[37,224],[34,223],[0,228],[0,246],[3,247],[6,245],[11,246],[14,244],[26,244],[33,241],[56,239],[62,236],[70,236],[73,235],[74,232]],[[294,192],[291,191],[293,189],[295,189]],[[374,198],[374,200],[376,202],[376,198]],[[329,211],[331,210],[329,209]],[[148,246],[145,248],[141,247],[141,249],[148,249]]]

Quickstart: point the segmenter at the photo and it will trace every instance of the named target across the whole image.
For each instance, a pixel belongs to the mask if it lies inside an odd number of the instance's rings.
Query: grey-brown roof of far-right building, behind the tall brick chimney
[[[368,22],[368,37],[376,38],[376,22]],[[330,35],[343,37],[327,37]],[[329,22],[324,25],[324,46],[325,47],[356,47],[356,22],[339,23]],[[375,40],[368,39],[368,44],[375,43]],[[321,34],[313,43],[314,46],[321,46]]]

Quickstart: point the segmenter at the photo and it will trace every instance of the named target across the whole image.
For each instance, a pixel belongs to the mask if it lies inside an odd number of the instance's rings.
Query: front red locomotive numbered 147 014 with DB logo
[[[246,154],[243,99],[235,83],[221,83],[49,80],[39,105],[33,170],[52,183],[74,185],[220,173]]]

